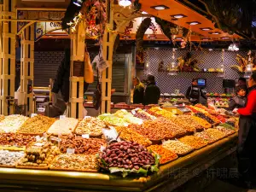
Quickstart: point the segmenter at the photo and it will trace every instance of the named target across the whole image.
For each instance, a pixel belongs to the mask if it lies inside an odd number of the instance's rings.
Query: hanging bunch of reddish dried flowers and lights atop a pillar
[[[91,0],[83,3],[79,15],[67,23],[71,31],[75,32],[79,23],[84,26],[85,36],[90,38],[101,38],[107,22],[106,6],[102,0]]]

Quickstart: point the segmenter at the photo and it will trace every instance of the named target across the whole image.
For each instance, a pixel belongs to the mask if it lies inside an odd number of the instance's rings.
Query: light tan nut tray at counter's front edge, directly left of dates
[[[97,172],[99,169],[94,154],[59,154],[51,162],[50,170]]]

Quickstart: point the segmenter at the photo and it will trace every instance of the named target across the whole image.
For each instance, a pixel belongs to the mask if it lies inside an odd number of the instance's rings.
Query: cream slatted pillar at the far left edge
[[[0,18],[16,19],[16,0],[3,0]],[[14,113],[8,98],[15,96],[15,34],[17,23],[0,21],[0,113]]]

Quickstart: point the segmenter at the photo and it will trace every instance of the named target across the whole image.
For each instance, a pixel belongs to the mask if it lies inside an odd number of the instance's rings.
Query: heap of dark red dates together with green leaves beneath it
[[[158,171],[158,160],[138,143],[111,143],[99,156],[101,166],[112,172],[123,172],[125,177],[129,172],[143,173]]]

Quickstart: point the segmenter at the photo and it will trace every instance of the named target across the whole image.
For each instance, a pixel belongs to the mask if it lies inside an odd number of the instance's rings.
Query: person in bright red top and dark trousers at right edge
[[[245,108],[239,108],[238,171],[242,181],[251,187],[256,177],[256,73],[248,81],[248,96]]]

